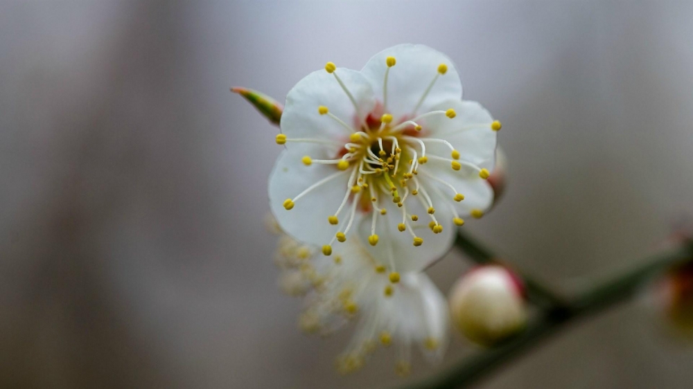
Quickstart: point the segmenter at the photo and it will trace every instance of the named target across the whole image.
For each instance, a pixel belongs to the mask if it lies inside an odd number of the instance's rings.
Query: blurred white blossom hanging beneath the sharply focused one
[[[398,353],[396,372],[411,370],[411,347],[418,344],[430,361],[441,359],[448,341],[445,297],[423,273],[392,278],[383,262],[356,239],[335,249],[320,249],[280,233],[275,262],[281,269],[279,287],[305,298],[299,327],[312,334],[331,334],[351,321],[356,332],[337,358],[337,370],[358,370],[378,345]]]

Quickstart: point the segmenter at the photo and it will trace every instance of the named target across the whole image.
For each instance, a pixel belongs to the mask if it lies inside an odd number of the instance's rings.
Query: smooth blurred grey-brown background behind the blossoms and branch
[[[0,3],[0,387],[382,388],[380,350],[297,330],[265,230],[283,100],[326,61],[449,55],[503,123],[509,188],[468,223],[570,291],[693,212],[690,1]],[[448,291],[468,262],[428,273]],[[480,388],[688,388],[693,345],[642,300],[577,323]],[[442,367],[474,349],[453,338]],[[414,377],[440,369],[421,359]]]

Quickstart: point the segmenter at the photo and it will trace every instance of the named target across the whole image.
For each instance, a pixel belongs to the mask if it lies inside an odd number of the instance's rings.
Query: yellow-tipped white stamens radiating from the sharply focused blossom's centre
[[[439,199],[449,197],[451,200],[457,202],[464,200],[464,194],[458,193],[455,187],[450,183],[439,177],[435,177],[431,171],[419,170],[421,166],[428,163],[429,160],[446,161],[450,163],[450,168],[455,171],[461,170],[464,166],[465,168],[475,170],[482,179],[488,179],[490,175],[488,170],[479,168],[473,163],[461,160],[459,152],[445,139],[420,136],[423,128],[419,123],[421,123],[421,120],[424,118],[444,115],[452,119],[457,115],[454,109],[447,109],[446,111],[430,111],[415,116],[416,110],[419,109],[421,102],[426,98],[433,84],[435,84],[439,76],[447,72],[448,68],[446,64],[439,65],[435,77],[430,82],[426,91],[423,92],[419,104],[417,104],[412,111],[411,116],[413,118],[410,120],[403,120],[401,123],[393,123],[392,114],[387,113],[387,78],[390,69],[396,64],[396,60],[394,57],[387,57],[386,63],[387,70],[385,71],[385,81],[383,85],[383,111],[386,113],[380,116],[380,120],[371,120],[371,124],[367,123],[365,116],[358,111],[356,100],[354,100],[351,92],[347,89],[344,82],[342,82],[335,71],[335,64],[328,62],[325,66],[325,70],[334,76],[344,93],[347,94],[353,103],[356,109],[356,115],[358,115],[359,118],[363,118],[361,120],[362,123],[360,123],[360,127],[354,128],[347,125],[341,118],[333,115],[328,107],[316,107],[316,114],[329,116],[344,128],[344,138],[348,138],[349,141],[344,143],[344,151],[334,159],[313,159],[311,156],[303,156],[301,161],[304,165],[313,165],[314,163],[334,165],[336,172],[314,183],[296,197],[286,199],[283,202],[284,208],[286,208],[286,210],[291,210],[295,206],[295,203],[308,192],[319,188],[319,186],[327,185],[337,177],[349,175],[347,188],[345,188],[344,197],[342,198],[340,206],[335,210],[333,215],[326,215],[328,224],[339,226],[339,229],[331,242],[328,242],[328,244],[322,247],[322,253],[324,255],[331,255],[332,244],[335,240],[344,242],[347,239],[347,234],[353,227],[353,221],[358,206],[361,206],[363,210],[371,210],[371,234],[368,237],[368,242],[372,246],[378,244],[379,237],[376,233],[376,222],[378,217],[387,215],[387,210],[383,206],[383,201],[392,201],[400,208],[401,215],[398,217],[397,228],[400,232],[407,231],[411,235],[412,244],[414,246],[421,246],[421,244],[423,244],[423,238],[414,233],[412,224],[419,221],[419,215],[413,215],[407,212],[407,199],[419,201],[423,209],[427,211],[428,218],[430,219],[428,226],[432,233],[441,233],[443,226],[441,226],[436,217],[436,204],[433,203],[431,194],[435,194]],[[480,127],[498,131],[501,125],[498,121],[493,121],[493,123],[477,123],[465,125],[457,131]],[[292,139],[287,138],[284,134],[277,135],[276,141],[280,145],[287,142],[335,143],[334,141],[326,141],[317,138]],[[450,158],[431,153],[427,154],[427,143],[446,145],[450,149]],[[421,179],[421,176],[426,177],[426,180]],[[451,194],[444,194],[441,188],[437,185],[431,185],[428,180],[436,181],[440,183],[442,187],[449,188]],[[349,203],[349,200],[351,200],[351,203]],[[450,214],[452,214],[453,223],[456,226],[462,226],[462,224],[464,224],[464,220],[457,214],[453,203],[438,205],[444,206]],[[483,216],[483,211],[475,209],[471,211],[471,215],[475,218],[479,218]],[[387,240],[392,241],[392,239]],[[394,270],[394,259],[391,258],[390,262],[391,269]],[[398,276],[396,279],[398,280]]]

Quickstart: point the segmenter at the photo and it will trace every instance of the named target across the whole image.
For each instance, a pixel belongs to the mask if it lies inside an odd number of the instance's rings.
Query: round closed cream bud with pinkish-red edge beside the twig
[[[469,340],[494,345],[525,327],[523,294],[519,278],[503,266],[472,269],[450,290],[453,324]]]

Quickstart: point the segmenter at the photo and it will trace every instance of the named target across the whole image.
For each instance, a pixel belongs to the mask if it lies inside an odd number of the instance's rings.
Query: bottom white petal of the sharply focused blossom
[[[444,201],[439,199],[435,193],[429,194],[435,206]],[[418,196],[421,197],[422,194],[418,194]],[[386,266],[389,266],[390,258],[392,258],[394,270],[399,273],[405,273],[426,269],[427,266],[439,260],[448,252],[455,238],[452,216],[442,215],[442,217],[437,217],[439,224],[443,226],[443,232],[434,234],[428,228],[428,223],[431,219],[426,212],[426,208],[423,208],[418,199],[410,194],[405,201],[407,213],[418,215],[419,221],[414,222],[410,218],[407,218],[407,221],[414,228],[414,233],[423,239],[421,246],[414,246],[412,235],[406,230],[400,231],[397,229],[397,225],[402,222],[402,208],[399,208],[396,203],[389,201],[389,199],[387,200],[378,202],[378,206],[385,208],[387,214],[378,214],[376,234],[380,239],[376,246],[371,246],[367,241],[367,237],[371,235],[372,214],[364,217],[359,227],[358,235],[374,258],[382,261]]]

